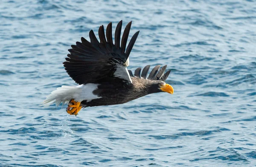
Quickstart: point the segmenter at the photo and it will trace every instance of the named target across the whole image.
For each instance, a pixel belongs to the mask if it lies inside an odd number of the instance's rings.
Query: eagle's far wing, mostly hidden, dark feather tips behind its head
[[[129,74],[131,77],[137,77],[137,78],[143,78],[143,79],[148,79],[148,80],[160,80],[160,81],[166,81],[167,77],[169,76],[171,70],[167,71],[164,73],[166,70],[167,65],[163,66],[160,68],[160,65],[155,66],[152,71],[149,73],[149,67],[150,65],[147,65],[143,68],[141,72],[141,68],[137,68],[134,71],[134,75],[132,74],[131,70],[128,70]],[[148,75],[148,78],[147,78]]]

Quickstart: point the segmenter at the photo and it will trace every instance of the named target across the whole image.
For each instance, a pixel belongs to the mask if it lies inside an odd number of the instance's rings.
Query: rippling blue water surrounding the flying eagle
[[[133,21],[129,69],[168,65],[175,92],[39,107],[90,29]],[[123,26],[124,28],[124,26]],[[1,0],[1,167],[256,165],[256,1]]]

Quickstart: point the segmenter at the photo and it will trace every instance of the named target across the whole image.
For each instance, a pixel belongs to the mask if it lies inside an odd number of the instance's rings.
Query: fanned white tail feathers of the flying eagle
[[[56,106],[60,105],[61,103],[67,104],[71,99],[75,98],[76,93],[80,92],[78,92],[79,89],[81,88],[65,85],[58,87],[46,97],[41,106],[47,107],[54,103]]]

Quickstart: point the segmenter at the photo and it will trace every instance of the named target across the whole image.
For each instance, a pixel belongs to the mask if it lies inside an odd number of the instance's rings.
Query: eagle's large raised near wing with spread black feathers
[[[115,44],[112,39],[112,23],[106,29],[106,36],[103,25],[99,27],[99,39],[96,38],[93,30],[90,31],[90,42],[81,37],[81,42],[71,45],[66,61],[63,63],[67,73],[78,84],[119,82],[131,83],[127,70],[129,55],[139,35],[136,32],[126,48],[128,35],[131,29],[131,22],[127,24],[122,35],[120,46],[120,35],[122,20],[117,24],[115,31]],[[126,48],[126,50],[125,50]]]

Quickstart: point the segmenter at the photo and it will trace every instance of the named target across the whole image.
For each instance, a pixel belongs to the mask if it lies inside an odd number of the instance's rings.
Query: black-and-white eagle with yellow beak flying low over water
[[[126,47],[131,23],[125,27],[122,39],[122,20],[117,24],[114,43],[112,23],[109,23],[106,35],[104,26],[99,27],[99,40],[91,30],[90,42],[81,37],[81,42],[71,45],[63,64],[68,75],[79,85],[58,87],[42,105],[68,104],[67,113],[77,115],[85,107],[124,104],[157,92],[173,94],[173,87],[165,83],[170,74],[170,70],[165,72],[166,65],[155,66],[149,75],[150,65],[137,68],[134,74],[127,69],[129,55],[140,32],[131,37]]]

